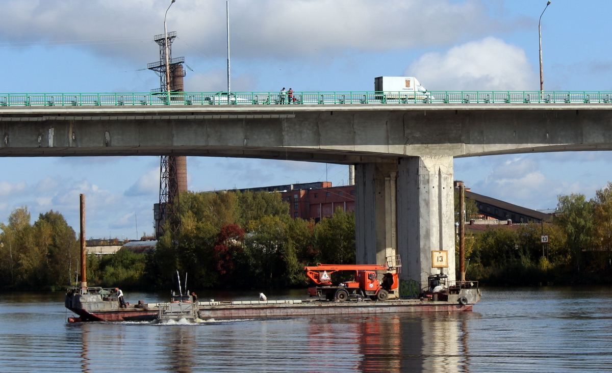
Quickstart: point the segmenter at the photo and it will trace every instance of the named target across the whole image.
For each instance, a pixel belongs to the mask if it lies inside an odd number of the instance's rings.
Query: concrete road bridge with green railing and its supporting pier
[[[426,281],[455,276],[453,158],[612,149],[612,92],[314,92],[316,103],[294,95],[301,100],[282,105],[276,92],[0,94],[0,157],[355,164],[357,262],[400,254],[401,278]],[[447,267],[434,267],[435,251],[446,251]]]

